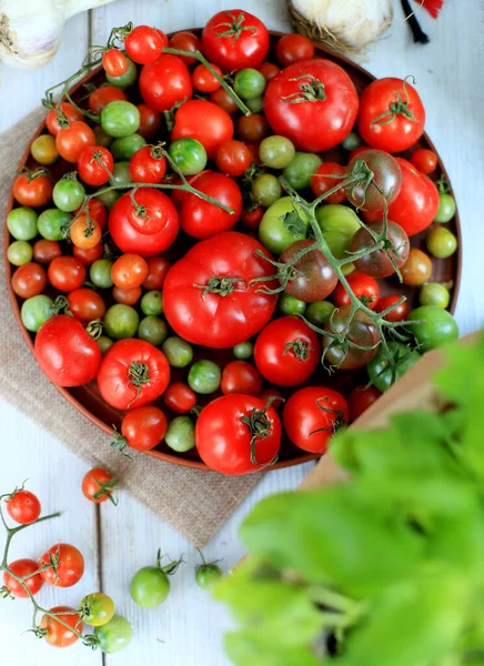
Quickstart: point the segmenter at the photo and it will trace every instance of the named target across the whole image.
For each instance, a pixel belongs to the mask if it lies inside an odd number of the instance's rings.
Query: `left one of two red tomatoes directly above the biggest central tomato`
[[[167,250],[175,240],[179,215],[171,199],[159,190],[140,188],[133,196],[138,209],[129,192],[112,206],[109,231],[123,252],[153,256]]]

